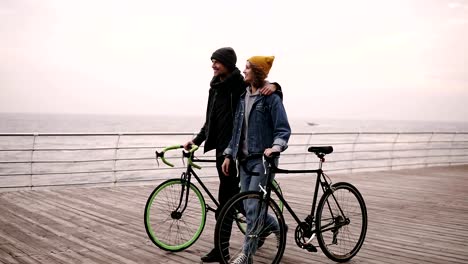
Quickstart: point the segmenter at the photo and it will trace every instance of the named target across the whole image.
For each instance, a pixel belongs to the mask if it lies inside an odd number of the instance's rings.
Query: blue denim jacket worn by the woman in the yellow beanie
[[[246,93],[241,96],[237,105],[232,138],[223,153],[230,155],[233,159],[239,156],[240,151],[245,96]],[[249,116],[247,133],[249,155],[263,153],[265,149],[271,148],[273,145],[279,145],[283,151],[288,147],[290,135],[291,128],[281,98],[277,94],[257,96]]]

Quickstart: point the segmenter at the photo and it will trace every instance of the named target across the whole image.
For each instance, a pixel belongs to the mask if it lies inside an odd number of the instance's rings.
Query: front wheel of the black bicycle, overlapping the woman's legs
[[[247,210],[253,212],[250,215],[252,224],[244,234],[241,229],[232,228],[232,223],[238,218],[247,219],[244,209],[247,201],[254,206]],[[270,215],[267,221],[266,212]],[[285,225],[276,202],[271,198],[265,201],[263,193],[244,192],[234,196],[223,207],[216,222],[215,245],[223,256],[222,263],[243,253],[249,253],[248,257],[254,263],[279,263],[286,247]],[[258,248],[260,239],[263,243]]]

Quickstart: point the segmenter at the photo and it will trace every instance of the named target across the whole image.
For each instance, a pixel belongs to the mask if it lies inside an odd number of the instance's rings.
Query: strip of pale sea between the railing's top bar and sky
[[[302,132],[467,132],[467,122],[290,117]],[[0,113],[0,133],[196,133],[204,116]]]

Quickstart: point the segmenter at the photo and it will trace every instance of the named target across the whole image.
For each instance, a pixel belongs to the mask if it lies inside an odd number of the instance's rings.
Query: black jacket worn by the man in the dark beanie
[[[275,85],[282,95],[281,87],[277,83]],[[219,77],[213,77],[210,86],[205,124],[193,143],[200,145],[205,141],[204,151],[216,149],[216,156],[220,156],[231,140],[237,103],[247,85],[239,69],[235,68],[223,81]]]

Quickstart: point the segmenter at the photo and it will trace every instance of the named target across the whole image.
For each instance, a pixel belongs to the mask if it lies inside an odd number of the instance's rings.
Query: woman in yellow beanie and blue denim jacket
[[[277,94],[261,95],[259,87],[265,85],[265,78],[273,64],[273,56],[254,56],[247,60],[244,70],[244,80],[249,83],[246,92],[241,95],[234,117],[232,138],[224,151],[225,160],[222,165],[223,173],[229,175],[229,165],[233,160],[242,162],[248,156],[265,154],[270,156],[273,152],[282,152],[288,146],[291,135],[286,111],[281,98]],[[259,173],[252,176],[240,166],[239,175],[241,191],[259,191],[259,184],[266,184],[266,174],[261,156],[247,161],[246,168]],[[274,179],[274,175],[272,180]],[[247,201],[244,204],[247,215],[247,231],[251,228],[256,216],[256,201]],[[279,231],[278,223],[272,216],[267,217],[267,225],[271,232]],[[258,246],[261,246],[260,243]],[[231,263],[252,263],[257,244],[246,237],[243,254],[237,256]]]

